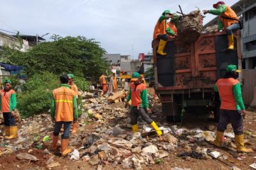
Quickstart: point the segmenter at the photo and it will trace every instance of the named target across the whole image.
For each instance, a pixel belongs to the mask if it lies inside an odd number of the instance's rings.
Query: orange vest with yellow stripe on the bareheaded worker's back
[[[75,96],[75,91],[64,86],[53,90],[55,121],[73,121],[73,98]]]

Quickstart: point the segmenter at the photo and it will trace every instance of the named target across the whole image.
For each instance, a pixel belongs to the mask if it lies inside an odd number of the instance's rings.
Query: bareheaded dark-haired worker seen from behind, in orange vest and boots
[[[60,88],[53,90],[50,103],[50,116],[55,123],[52,149],[53,151],[57,149],[60,128],[64,125],[64,132],[61,136],[61,155],[65,157],[71,152],[68,148],[68,138],[73,121],[78,119],[78,108],[75,91],[68,85],[68,75],[61,76],[60,83]]]

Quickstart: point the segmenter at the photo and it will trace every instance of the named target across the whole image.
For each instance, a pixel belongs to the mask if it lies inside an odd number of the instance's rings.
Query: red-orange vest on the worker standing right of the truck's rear
[[[233,94],[233,86],[235,84],[240,83],[237,79],[229,78],[229,79],[219,79],[216,83],[218,88],[220,98],[221,98],[221,109],[226,110],[237,110],[235,96]]]

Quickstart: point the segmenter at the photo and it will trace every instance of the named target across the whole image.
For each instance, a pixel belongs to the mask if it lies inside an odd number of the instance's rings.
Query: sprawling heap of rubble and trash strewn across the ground
[[[159,141],[154,130],[139,119],[139,132],[132,134],[129,110],[124,108],[124,102],[117,99],[126,95],[122,91],[113,96],[80,92],[82,103],[79,104],[79,109],[82,115],[78,119],[78,132],[70,135],[69,146],[73,148],[68,156],[70,160],[87,162],[97,166],[97,169],[102,169],[107,164],[122,166],[123,169],[143,169],[143,166],[161,164],[165,157],[174,152],[177,153],[176,157],[186,160],[220,159],[225,162],[228,159],[227,155],[216,152],[208,143],[215,138],[215,127],[210,127],[211,131],[205,131],[158,122],[164,133],[163,140]],[[159,99],[149,95],[149,101],[150,106],[154,106],[151,118],[159,117]],[[48,113],[23,119],[19,126],[16,140],[1,139],[0,155],[16,151],[21,153],[27,149],[28,154],[19,154],[17,157],[40,161],[41,159],[33,157],[33,150],[38,149],[48,155],[44,157],[48,168],[60,166],[58,157],[50,153],[53,123]],[[223,147],[235,149],[233,141],[234,134],[225,132]],[[60,140],[58,145],[60,146]],[[233,155],[240,157],[238,154]]]

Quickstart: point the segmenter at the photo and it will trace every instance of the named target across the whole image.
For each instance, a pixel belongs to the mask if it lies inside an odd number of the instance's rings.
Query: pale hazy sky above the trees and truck
[[[218,0],[217,0],[218,1]],[[216,0],[0,0],[0,29],[24,35],[82,35],[95,38],[107,53],[137,58],[151,52],[154,26],[161,13],[212,8]],[[225,1],[232,6],[238,0]],[[215,16],[207,14],[203,23]],[[1,31],[1,30],[0,30]],[[50,38],[50,35],[44,38]]]

